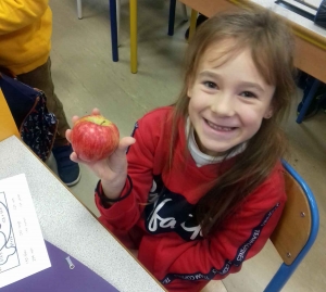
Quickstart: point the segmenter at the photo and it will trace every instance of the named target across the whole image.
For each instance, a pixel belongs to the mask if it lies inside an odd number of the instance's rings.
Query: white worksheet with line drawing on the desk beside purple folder
[[[49,267],[25,175],[0,180],[0,288]]]

